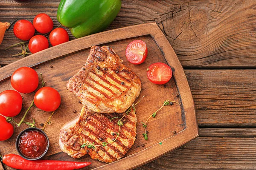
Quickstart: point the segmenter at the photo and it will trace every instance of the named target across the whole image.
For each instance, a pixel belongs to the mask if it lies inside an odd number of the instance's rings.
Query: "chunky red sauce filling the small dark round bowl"
[[[28,158],[37,158],[47,149],[47,139],[39,131],[29,130],[20,136],[19,150]]]

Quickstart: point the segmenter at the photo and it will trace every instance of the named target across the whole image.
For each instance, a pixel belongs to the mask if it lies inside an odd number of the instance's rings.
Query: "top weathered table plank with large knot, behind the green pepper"
[[[0,21],[32,21],[36,14],[44,12],[57,27],[58,3],[2,0]],[[122,8],[108,29],[157,22],[184,68],[255,68],[255,6],[254,0],[122,0]],[[70,39],[74,39],[71,34]],[[1,65],[22,58],[12,57],[20,47],[3,50],[17,42],[11,28],[0,46]]]

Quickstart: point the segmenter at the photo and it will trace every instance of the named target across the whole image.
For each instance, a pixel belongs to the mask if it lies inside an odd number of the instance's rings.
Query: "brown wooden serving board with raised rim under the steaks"
[[[125,49],[132,40],[143,40],[148,47],[148,57],[140,65],[131,64],[125,57]],[[123,63],[130,67],[141,79],[142,90],[136,101],[145,95],[145,98],[136,107],[137,139],[134,145],[124,158],[110,164],[92,160],[89,155],[80,159],[72,159],[67,154],[62,153],[58,145],[59,131],[62,125],[77,116],[82,108],[79,99],[66,89],[66,82],[86,62],[92,45],[112,47],[123,59]],[[146,69],[154,62],[164,62],[172,68],[173,77],[166,85],[155,85],[148,80]],[[45,159],[92,161],[92,164],[84,170],[133,169],[180,147],[198,136],[195,106],[182,65],[180,65],[172,46],[156,23],[93,34],[20,59],[0,68],[0,92],[13,89],[10,76],[17,68],[23,66],[34,68],[38,75],[42,73],[44,80],[47,82],[46,86],[55,88],[61,94],[61,105],[52,116],[52,124],[47,125],[45,129],[50,142]],[[15,117],[16,122],[19,122],[33,99],[33,94],[22,94],[22,96],[24,97],[23,109]],[[147,126],[148,140],[145,141],[142,135],[144,129],[141,122],[145,122],[167,99],[179,102],[180,106],[175,103],[171,106],[165,106],[157,113],[155,118],[151,118]],[[73,113],[74,109],[77,111],[76,113]],[[40,124],[45,123],[50,114],[49,112],[38,111],[36,107],[33,107],[29,111],[26,121],[30,122],[31,117],[33,117],[36,120],[36,126],[42,128]],[[17,154],[15,140],[20,131],[26,127],[25,124],[21,127],[15,127],[15,133],[11,139],[0,142],[1,154]],[[9,167],[5,168],[11,169]]]

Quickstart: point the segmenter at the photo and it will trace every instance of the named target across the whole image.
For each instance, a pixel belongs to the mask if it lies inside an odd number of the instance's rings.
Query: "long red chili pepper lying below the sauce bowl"
[[[8,154],[3,156],[3,163],[19,170],[76,170],[86,167],[91,162],[71,162],[53,160],[29,161],[19,155]]]

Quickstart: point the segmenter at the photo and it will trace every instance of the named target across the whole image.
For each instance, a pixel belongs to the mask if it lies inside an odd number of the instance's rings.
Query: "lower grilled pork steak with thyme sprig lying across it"
[[[88,153],[92,159],[106,163],[121,159],[134,144],[137,123],[135,111],[131,109],[131,112],[122,119],[123,125],[116,139],[119,119],[111,120],[111,118],[121,118],[123,114],[95,113],[83,107],[79,116],[62,127],[59,139],[61,150],[73,158],[80,158]],[[116,141],[112,142],[114,139]],[[83,144],[93,142],[95,145],[100,145],[102,142],[112,143],[95,148],[81,147]]]

